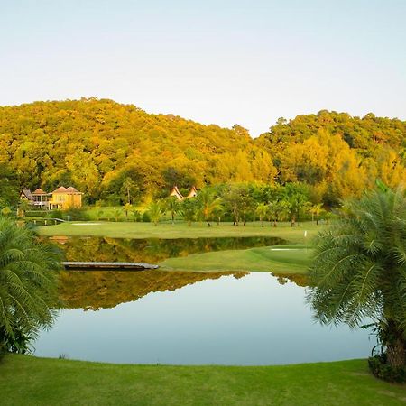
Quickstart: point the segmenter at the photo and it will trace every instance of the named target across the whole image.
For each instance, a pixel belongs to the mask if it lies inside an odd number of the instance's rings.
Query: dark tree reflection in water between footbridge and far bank
[[[158,263],[167,258],[237,250],[255,246],[279,245],[283,240],[274,237],[124,239],[72,237],[60,247],[68,261],[128,261]]]

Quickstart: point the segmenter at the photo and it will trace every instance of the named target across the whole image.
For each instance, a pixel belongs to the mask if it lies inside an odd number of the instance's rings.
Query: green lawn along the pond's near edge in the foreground
[[[7,355],[2,405],[399,405],[365,360],[283,366],[117,365]]]

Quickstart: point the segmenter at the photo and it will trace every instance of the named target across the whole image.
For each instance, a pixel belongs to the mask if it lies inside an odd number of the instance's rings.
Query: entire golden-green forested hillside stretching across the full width
[[[406,179],[406,123],[322,111],[283,119],[253,140],[233,129],[88,98],[0,107],[0,163],[20,188],[61,184],[89,201],[142,197],[173,184],[300,181],[315,193],[354,194]],[[12,175],[10,175],[12,176]],[[126,183],[125,183],[126,182]]]

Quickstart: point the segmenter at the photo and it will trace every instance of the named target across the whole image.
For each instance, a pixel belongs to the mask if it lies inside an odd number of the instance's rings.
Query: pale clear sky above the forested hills
[[[242,125],[406,119],[406,0],[0,0],[0,106],[111,98]]]

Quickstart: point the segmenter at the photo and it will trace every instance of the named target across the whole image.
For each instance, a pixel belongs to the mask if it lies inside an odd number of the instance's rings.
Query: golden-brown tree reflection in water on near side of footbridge
[[[153,291],[175,291],[183,286],[218,279],[241,278],[248,272],[109,272],[71,271],[60,273],[60,299],[67,309],[114,308]]]

